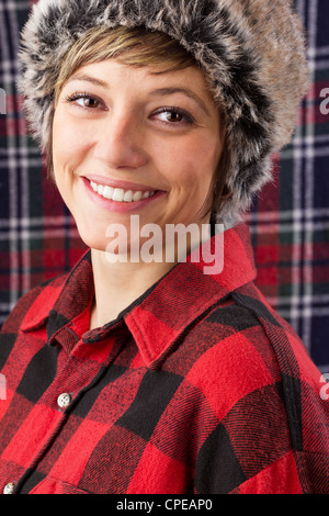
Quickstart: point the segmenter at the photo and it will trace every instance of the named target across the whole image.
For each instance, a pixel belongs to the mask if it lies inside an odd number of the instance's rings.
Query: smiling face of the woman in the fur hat
[[[156,75],[114,59],[77,70],[54,115],[55,181],[84,243],[110,224],[207,223],[201,211],[222,154],[219,113],[194,67]],[[164,233],[163,233],[164,234]]]

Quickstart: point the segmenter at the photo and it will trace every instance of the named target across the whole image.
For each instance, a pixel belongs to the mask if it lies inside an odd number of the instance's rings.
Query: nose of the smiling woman
[[[143,145],[143,131],[133,116],[106,117],[97,138],[94,157],[109,168],[139,168],[148,158]]]

